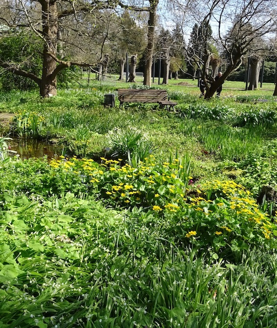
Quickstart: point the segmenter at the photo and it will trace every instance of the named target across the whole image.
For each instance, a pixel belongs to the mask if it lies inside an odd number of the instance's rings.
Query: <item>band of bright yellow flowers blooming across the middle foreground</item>
[[[252,224],[253,229],[261,229],[259,231],[264,237],[266,239],[270,238],[271,222],[259,210],[255,200],[251,198],[250,192],[241,185],[236,184],[234,181],[215,180],[207,182],[202,187],[198,186],[197,194],[199,197],[188,197],[190,200],[188,203],[188,199],[182,194],[182,190],[177,184],[177,181],[180,183],[176,175],[179,163],[177,161],[173,163],[164,162],[162,170],[157,170],[156,168],[153,169],[153,165],[157,165],[153,163],[153,159],[154,157],[150,157],[146,163],[141,162],[138,167],[133,168],[128,164],[121,165],[122,159],[113,160],[102,157],[102,163],[98,164],[92,159],[77,159],[76,157],[67,159],[61,156],[60,159],[53,159],[50,165],[54,168],[62,167],[65,171],[72,170],[76,174],[85,174],[89,177],[91,183],[96,183],[96,186],[105,171],[112,172],[113,184],[110,182],[106,184],[105,177],[104,180],[102,179],[107,190],[106,195],[111,200],[118,199],[127,204],[130,202],[132,204],[141,204],[145,202],[145,197],[150,188],[153,193],[151,208],[156,213],[162,213],[163,211],[182,212],[189,207],[191,210],[199,212],[198,215],[200,216],[214,214],[220,222],[220,220],[223,221],[226,218],[226,211],[228,211],[228,216],[236,219],[239,225],[243,222],[243,224]],[[172,166],[176,167],[175,171],[170,171]],[[162,195],[158,191],[161,186],[163,186]],[[207,200],[204,195],[209,195],[209,193],[219,198]],[[233,233],[234,226],[231,223],[230,226],[223,222],[221,224],[222,226],[217,225],[215,235],[226,236],[226,233]],[[192,230],[187,233],[186,237],[190,238],[195,235],[196,231]]]

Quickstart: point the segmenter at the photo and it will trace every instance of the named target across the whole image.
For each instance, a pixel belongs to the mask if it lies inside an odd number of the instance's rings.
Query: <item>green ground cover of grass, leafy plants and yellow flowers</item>
[[[175,111],[105,108],[116,79],[0,92],[16,114],[0,126],[0,327],[276,327],[276,203],[257,202],[277,188],[275,86],[226,81],[207,102],[197,81],[155,81]],[[22,160],[8,138],[61,153]]]

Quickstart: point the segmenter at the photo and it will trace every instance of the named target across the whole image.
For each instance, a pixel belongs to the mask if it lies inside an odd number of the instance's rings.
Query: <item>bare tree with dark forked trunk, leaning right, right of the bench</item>
[[[209,11],[205,20],[213,25],[217,24],[217,35],[214,41],[224,49],[227,58],[226,69],[216,81],[207,76],[207,66],[211,59],[208,46],[202,66],[202,78],[206,84],[205,99],[213,97],[227,77],[242,63],[242,59],[252,52],[264,49],[264,42],[257,44],[256,40],[265,39],[277,29],[276,10],[274,0],[211,0],[208,1]],[[226,33],[224,22],[230,23]]]

